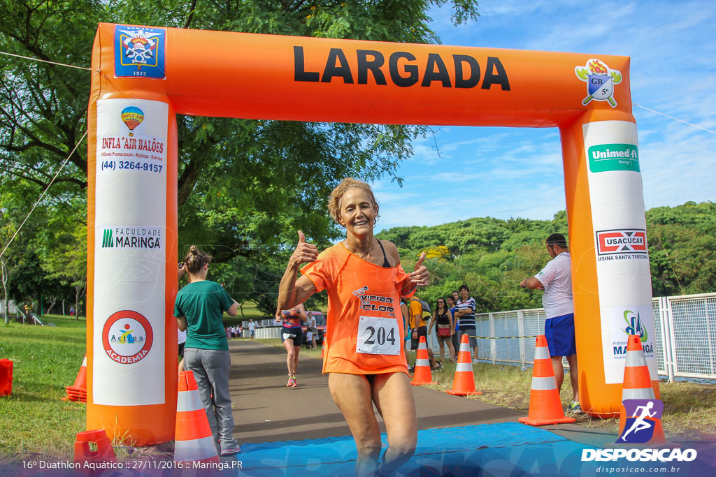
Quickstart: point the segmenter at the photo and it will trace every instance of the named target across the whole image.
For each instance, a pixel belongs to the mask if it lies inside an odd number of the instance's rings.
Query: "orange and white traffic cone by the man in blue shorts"
[[[537,337],[535,345],[530,410],[526,418],[519,418],[518,421],[530,426],[574,423],[574,418],[565,417],[562,410],[559,390],[554,380],[552,360],[547,348],[547,338],[544,335]]]

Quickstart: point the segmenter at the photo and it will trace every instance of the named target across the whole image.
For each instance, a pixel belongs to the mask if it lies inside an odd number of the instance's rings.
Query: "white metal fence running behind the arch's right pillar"
[[[652,306],[659,374],[716,379],[716,293],[657,297]],[[526,337],[543,334],[545,319],[542,308],[476,313],[477,334],[488,337],[478,338],[478,358],[531,365],[535,338]],[[437,351],[435,336],[428,341]]]

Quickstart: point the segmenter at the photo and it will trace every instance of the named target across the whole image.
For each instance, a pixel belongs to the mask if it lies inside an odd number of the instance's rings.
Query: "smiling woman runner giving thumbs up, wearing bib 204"
[[[328,348],[323,372],[331,396],[356,442],[356,473],[372,475],[402,466],[415,452],[415,402],[402,351],[400,296],[425,286],[425,254],[415,271],[400,266],[392,242],[373,237],[378,204],[370,186],[344,179],[329,197],[328,210],[345,227],[346,240],[318,254],[299,230],[299,243],[279,287],[279,308],[288,310],[314,292],[328,292]],[[310,262],[296,274],[301,263]],[[382,415],[388,448],[378,468],[380,429],[373,403]]]

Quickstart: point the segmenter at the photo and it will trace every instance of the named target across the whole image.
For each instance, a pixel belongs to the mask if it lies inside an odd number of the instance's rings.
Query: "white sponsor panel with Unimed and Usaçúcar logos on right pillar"
[[[589,199],[601,310],[606,384],[624,380],[627,338],[637,334],[657,379],[652,282],[647,251],[637,125],[627,121],[584,124]]]

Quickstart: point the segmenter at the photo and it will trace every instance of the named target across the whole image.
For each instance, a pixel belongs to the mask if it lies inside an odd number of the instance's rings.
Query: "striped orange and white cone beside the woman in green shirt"
[[[218,462],[209,420],[201,405],[194,373],[179,373],[177,426],[174,436],[175,462]]]

